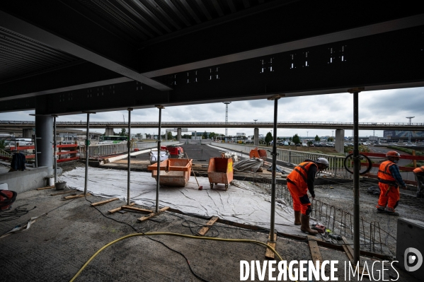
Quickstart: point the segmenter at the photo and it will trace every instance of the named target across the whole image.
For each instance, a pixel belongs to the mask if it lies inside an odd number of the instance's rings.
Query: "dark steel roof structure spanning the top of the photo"
[[[424,86],[419,1],[0,3],[0,112]]]

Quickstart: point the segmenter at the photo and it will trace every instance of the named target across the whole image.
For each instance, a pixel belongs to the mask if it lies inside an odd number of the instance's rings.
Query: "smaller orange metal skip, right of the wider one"
[[[233,159],[232,158],[210,158],[209,168],[207,168],[207,177],[210,182],[210,189],[214,188],[214,184],[228,184],[233,181]]]

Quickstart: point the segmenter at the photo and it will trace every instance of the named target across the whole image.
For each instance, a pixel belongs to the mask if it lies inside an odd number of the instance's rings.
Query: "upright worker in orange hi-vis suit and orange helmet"
[[[399,172],[399,167],[396,165],[401,155],[396,151],[389,151],[386,153],[386,158],[387,160],[380,164],[379,172],[377,173],[380,187],[379,202],[376,206],[377,212],[399,216],[399,213],[394,211],[399,204],[399,199],[401,199],[399,187],[406,188],[406,184],[403,182]]]

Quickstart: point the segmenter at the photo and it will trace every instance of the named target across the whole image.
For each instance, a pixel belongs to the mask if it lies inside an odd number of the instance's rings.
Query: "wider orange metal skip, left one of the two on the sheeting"
[[[190,179],[191,163],[193,160],[186,158],[168,158],[161,162],[160,166],[160,184],[166,186],[185,187]],[[149,165],[147,170],[151,170],[151,177],[156,181],[157,163]]]

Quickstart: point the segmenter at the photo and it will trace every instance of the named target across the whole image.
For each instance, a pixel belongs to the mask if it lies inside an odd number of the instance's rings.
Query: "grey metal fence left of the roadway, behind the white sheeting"
[[[178,144],[178,141],[162,141],[161,146],[175,145]],[[134,148],[139,149],[147,149],[147,148],[156,148],[156,142],[136,142],[132,146],[132,150]],[[117,153],[126,153],[128,151],[127,143],[118,143],[118,144],[96,144],[88,146],[88,156],[89,158],[101,158],[106,155],[115,155]],[[86,146],[79,146],[79,155],[80,159],[86,158]]]

